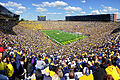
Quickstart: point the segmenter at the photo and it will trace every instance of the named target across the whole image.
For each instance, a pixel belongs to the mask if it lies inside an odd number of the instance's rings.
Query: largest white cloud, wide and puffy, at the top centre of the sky
[[[68,4],[63,1],[55,1],[55,2],[42,2],[42,4],[32,4],[35,7],[64,7],[67,6]]]

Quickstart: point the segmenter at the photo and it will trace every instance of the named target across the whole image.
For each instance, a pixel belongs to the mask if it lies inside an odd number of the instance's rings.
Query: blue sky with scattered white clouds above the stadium
[[[37,16],[65,20],[65,16],[108,13],[120,18],[120,0],[0,0],[0,4],[25,20],[37,20]]]

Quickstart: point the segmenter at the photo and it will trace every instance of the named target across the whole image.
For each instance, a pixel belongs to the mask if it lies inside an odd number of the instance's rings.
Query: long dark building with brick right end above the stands
[[[99,14],[99,15],[84,15],[84,16],[66,16],[66,21],[117,21],[116,14]]]

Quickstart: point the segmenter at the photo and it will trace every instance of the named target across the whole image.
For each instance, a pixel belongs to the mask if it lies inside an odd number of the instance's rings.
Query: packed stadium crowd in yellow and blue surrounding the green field
[[[16,35],[0,32],[0,80],[120,80],[120,34],[111,34],[119,23],[51,23],[40,22],[90,36],[59,46],[20,25],[13,27]]]

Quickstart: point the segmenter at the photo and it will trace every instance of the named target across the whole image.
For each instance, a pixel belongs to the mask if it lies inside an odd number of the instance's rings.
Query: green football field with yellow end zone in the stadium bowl
[[[46,36],[49,36],[50,40],[60,45],[69,44],[87,37],[85,35],[64,32],[61,30],[41,30],[41,32]]]

